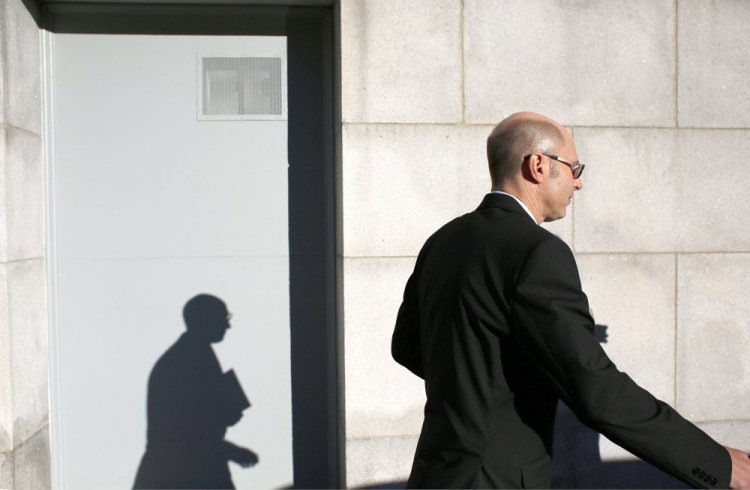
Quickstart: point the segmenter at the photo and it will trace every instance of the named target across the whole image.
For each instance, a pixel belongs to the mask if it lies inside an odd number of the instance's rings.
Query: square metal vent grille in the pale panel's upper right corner
[[[202,58],[202,74],[204,118],[284,115],[281,58]]]

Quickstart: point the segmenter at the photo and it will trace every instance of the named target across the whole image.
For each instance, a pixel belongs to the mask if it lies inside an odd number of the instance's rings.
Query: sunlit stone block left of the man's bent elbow
[[[424,384],[391,357],[391,335],[413,258],[345,259],[348,437],[418,434]]]

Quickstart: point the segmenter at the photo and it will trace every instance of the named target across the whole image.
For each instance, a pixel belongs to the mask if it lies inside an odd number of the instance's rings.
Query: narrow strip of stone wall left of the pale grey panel
[[[40,31],[0,0],[0,488],[50,486]]]

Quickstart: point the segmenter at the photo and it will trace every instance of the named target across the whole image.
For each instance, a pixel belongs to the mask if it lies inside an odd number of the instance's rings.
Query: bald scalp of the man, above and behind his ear
[[[517,112],[503,119],[487,138],[493,189],[518,173],[524,156],[555,152],[565,145],[564,131],[559,123],[533,112]]]

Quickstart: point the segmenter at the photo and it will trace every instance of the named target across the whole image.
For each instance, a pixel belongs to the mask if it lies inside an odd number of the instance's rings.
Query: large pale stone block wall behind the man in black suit
[[[587,163],[550,229],[577,256],[605,349],[750,449],[748,51],[737,0],[341,1],[349,486],[408,475],[424,391],[390,358],[403,286],[427,236],[489,190],[485,138],[519,110],[571,128]],[[596,449],[602,465],[632,458]],[[617,485],[566,464],[562,481]]]

